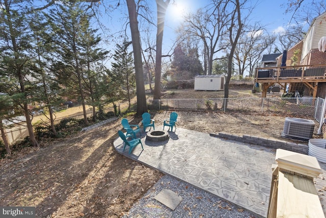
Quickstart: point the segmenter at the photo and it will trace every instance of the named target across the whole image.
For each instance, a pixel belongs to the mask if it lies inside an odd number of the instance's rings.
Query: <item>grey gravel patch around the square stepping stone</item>
[[[154,197],[162,189],[170,189],[182,197],[182,201],[175,210],[161,204]],[[247,210],[237,208],[235,205],[223,201],[217,196],[207,193],[193,185],[180,181],[170,176],[161,177],[153,187],[137,203],[135,203],[128,214],[123,218],[130,217],[250,217],[255,215]]]

